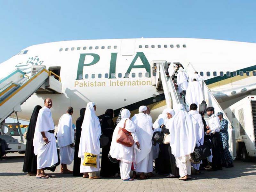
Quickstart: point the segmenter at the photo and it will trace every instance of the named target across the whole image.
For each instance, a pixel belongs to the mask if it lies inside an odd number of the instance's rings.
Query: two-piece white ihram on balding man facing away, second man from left
[[[58,145],[60,147],[60,163],[71,164],[74,159],[74,148],[70,144],[74,143],[74,130],[72,127],[72,116],[63,114],[58,124],[56,134]]]

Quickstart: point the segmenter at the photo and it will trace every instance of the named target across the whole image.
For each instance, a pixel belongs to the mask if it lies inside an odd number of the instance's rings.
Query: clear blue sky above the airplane
[[[0,0],[0,63],[33,44],[191,37],[256,42],[256,1]]]

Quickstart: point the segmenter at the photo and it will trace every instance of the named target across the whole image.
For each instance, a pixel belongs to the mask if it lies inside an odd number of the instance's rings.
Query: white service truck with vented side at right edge
[[[236,154],[243,161],[256,157],[256,95],[246,96],[225,109],[236,136]]]

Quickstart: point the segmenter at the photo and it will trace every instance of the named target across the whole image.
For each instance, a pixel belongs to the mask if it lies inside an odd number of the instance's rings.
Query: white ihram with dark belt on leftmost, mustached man
[[[51,109],[43,107],[39,110],[36,128],[33,140],[34,153],[37,155],[37,169],[51,167],[58,163],[57,147],[54,133],[48,131],[54,130],[54,123],[52,119]],[[41,132],[44,132],[45,137],[48,138],[49,143],[44,145]]]

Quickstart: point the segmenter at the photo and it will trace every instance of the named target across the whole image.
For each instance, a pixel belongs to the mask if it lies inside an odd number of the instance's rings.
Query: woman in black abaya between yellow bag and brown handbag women
[[[114,110],[107,109],[101,125],[101,132],[109,138],[108,145],[102,148],[100,176],[103,176],[103,177],[115,177],[116,173],[119,170],[119,164],[112,163],[108,159],[108,153],[110,151],[112,135],[115,129],[115,125],[112,120],[113,117],[114,117]]]

